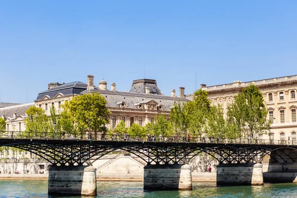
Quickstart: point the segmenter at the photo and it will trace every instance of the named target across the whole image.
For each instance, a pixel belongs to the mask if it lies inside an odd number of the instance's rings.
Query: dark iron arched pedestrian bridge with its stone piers
[[[297,162],[297,141],[278,140],[126,135],[90,138],[90,135],[76,137],[59,133],[5,132],[0,135],[0,147],[27,150],[49,161],[52,164],[49,169],[49,193],[82,195],[96,194],[96,169],[92,168],[92,163],[117,149],[133,153],[147,163],[144,189],[192,189],[192,171],[187,164],[202,152],[220,163],[217,167],[218,184],[263,184],[261,162],[267,155],[269,163]],[[88,179],[84,180],[82,175]],[[74,180],[81,183],[67,183]],[[65,182],[68,186],[79,184],[79,188],[66,188]]]

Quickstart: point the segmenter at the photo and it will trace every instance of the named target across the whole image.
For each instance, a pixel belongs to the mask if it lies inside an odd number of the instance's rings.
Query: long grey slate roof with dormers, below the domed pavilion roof
[[[173,106],[175,100],[190,101],[185,97],[170,97],[164,95],[154,95],[154,94],[142,94],[142,93],[132,93],[132,92],[120,92],[120,91],[110,91],[101,90],[98,88],[92,90],[86,90],[83,93],[96,92],[104,96],[107,101],[108,107],[118,107],[121,102],[126,103],[126,108],[137,108],[136,104],[145,103],[150,100],[154,100],[158,105],[163,106],[163,110],[169,111],[170,107]]]

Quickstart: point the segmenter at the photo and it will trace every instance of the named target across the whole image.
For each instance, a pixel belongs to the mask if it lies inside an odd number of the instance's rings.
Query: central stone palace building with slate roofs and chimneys
[[[121,120],[124,120],[126,127],[130,127],[132,123],[144,126],[152,122],[158,113],[164,113],[169,119],[170,107],[174,101],[189,100],[185,98],[185,88],[180,88],[180,96],[175,95],[175,90],[171,91],[171,96],[165,96],[159,90],[156,81],[151,79],[134,80],[129,92],[117,91],[115,83],[112,83],[108,90],[107,82],[103,79],[97,87],[94,85],[93,75],[87,76],[87,82],[51,83],[48,90],[38,94],[35,105],[42,107],[46,114],[50,115],[51,106],[59,111],[62,110],[61,104],[77,95],[99,93],[105,97],[107,107],[111,111],[110,123],[106,127],[113,130]]]

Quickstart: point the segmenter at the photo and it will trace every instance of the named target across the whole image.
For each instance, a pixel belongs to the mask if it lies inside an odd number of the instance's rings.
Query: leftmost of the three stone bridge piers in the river
[[[97,195],[93,166],[53,166],[49,168],[49,194]]]

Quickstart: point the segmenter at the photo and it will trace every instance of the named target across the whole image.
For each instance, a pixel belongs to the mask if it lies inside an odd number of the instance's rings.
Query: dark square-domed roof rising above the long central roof
[[[157,86],[157,82],[151,79],[134,80],[130,92],[145,94],[146,87],[150,88],[150,94],[163,95]]]

